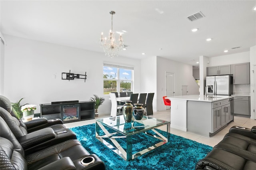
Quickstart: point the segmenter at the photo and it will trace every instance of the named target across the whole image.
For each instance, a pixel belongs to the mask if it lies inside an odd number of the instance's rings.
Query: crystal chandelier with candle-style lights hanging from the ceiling
[[[111,30],[108,35],[108,39],[103,37],[103,32],[101,33],[101,46],[105,52],[105,55],[108,55],[109,57],[113,58],[115,56],[118,56],[118,51],[122,50],[124,47],[124,43],[122,40],[122,34],[120,34],[120,38],[116,42],[114,31],[113,31],[113,15],[116,14],[114,11],[109,12],[111,14]]]

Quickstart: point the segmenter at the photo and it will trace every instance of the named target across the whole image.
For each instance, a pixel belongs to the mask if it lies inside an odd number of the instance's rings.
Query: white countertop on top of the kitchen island
[[[214,102],[223,99],[234,98],[233,96],[214,96],[214,97],[205,97],[205,95],[185,95],[185,96],[172,96],[166,97],[166,99],[176,99],[176,100],[189,100],[189,101],[205,101],[205,102]]]

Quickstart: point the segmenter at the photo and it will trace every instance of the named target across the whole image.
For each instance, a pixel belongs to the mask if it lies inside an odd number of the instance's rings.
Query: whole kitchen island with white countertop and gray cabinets
[[[212,136],[234,120],[233,96],[185,95],[166,97],[172,102],[171,127]]]

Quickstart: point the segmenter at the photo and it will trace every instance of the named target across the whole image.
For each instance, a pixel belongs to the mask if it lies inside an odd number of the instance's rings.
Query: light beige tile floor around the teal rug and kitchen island
[[[109,114],[104,114],[104,115],[99,114],[99,117],[96,117],[96,119],[104,118],[104,117],[110,117],[110,115]],[[154,118],[157,118],[157,119],[162,119],[162,120],[165,120],[165,121],[170,121],[170,109],[168,109],[166,111],[154,112],[154,115],[152,115],[151,117],[154,117]],[[65,123],[64,125],[67,128],[71,128],[71,127],[89,125],[89,124],[92,124],[92,123],[95,123],[95,119],[88,120],[88,121]],[[195,134],[195,133],[192,133],[192,132],[184,132],[182,130],[178,130],[178,129],[174,129],[174,128],[170,128],[170,132],[172,134],[176,134],[176,135],[182,136],[184,138],[195,140],[197,142],[207,144],[209,146],[215,146],[216,144],[218,144],[218,142],[220,142],[223,139],[224,135],[226,133],[228,133],[228,130],[232,126],[242,126],[242,127],[251,128],[253,126],[256,126],[256,120],[245,118],[245,117],[235,116],[234,117],[234,122],[229,123],[225,128],[220,130],[217,134],[215,134],[212,137],[206,137],[206,136],[202,136],[202,135]],[[165,127],[164,127],[163,130],[166,130]]]

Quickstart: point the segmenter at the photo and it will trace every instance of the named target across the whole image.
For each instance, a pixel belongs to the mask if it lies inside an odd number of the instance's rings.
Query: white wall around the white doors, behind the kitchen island
[[[192,65],[180,63],[170,59],[157,57],[157,111],[165,110],[164,101],[162,99],[165,96],[165,75],[166,72],[174,73],[175,75],[175,96],[181,95],[181,86],[188,85],[188,95],[198,95],[199,88],[192,75]]]

